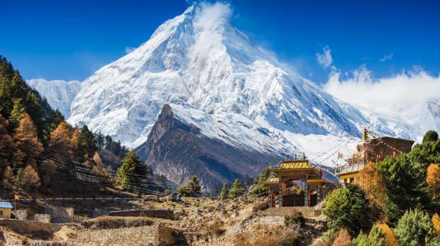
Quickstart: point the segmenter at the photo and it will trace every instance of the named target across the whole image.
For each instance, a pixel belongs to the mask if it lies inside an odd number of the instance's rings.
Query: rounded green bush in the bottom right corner
[[[394,233],[400,245],[427,245],[427,242],[436,240],[431,218],[418,208],[405,212]]]

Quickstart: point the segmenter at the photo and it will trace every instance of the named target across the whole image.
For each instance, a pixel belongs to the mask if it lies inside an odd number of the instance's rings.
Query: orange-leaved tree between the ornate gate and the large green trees
[[[379,213],[383,213],[385,199],[387,198],[385,182],[374,162],[370,162],[363,167],[361,172],[359,172],[356,183],[365,191],[371,205],[378,208]]]

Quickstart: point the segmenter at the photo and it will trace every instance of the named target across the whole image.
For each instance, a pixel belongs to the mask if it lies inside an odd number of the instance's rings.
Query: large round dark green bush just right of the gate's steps
[[[368,199],[357,185],[332,191],[326,198],[323,213],[331,219],[330,228],[346,228],[351,235],[368,231],[373,224]]]

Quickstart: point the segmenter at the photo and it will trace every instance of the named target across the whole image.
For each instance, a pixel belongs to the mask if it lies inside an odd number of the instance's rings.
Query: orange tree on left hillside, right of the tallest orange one
[[[62,122],[50,133],[48,146],[63,157],[72,158],[75,148],[72,135],[69,124]]]

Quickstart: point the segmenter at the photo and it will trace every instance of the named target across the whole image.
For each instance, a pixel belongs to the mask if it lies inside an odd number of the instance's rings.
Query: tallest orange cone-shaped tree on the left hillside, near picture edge
[[[15,130],[13,142],[21,152],[16,153],[14,157],[16,164],[23,164],[26,157],[37,156],[43,152],[43,145],[38,140],[37,128],[34,125],[31,116],[27,113],[23,115],[18,128]]]

